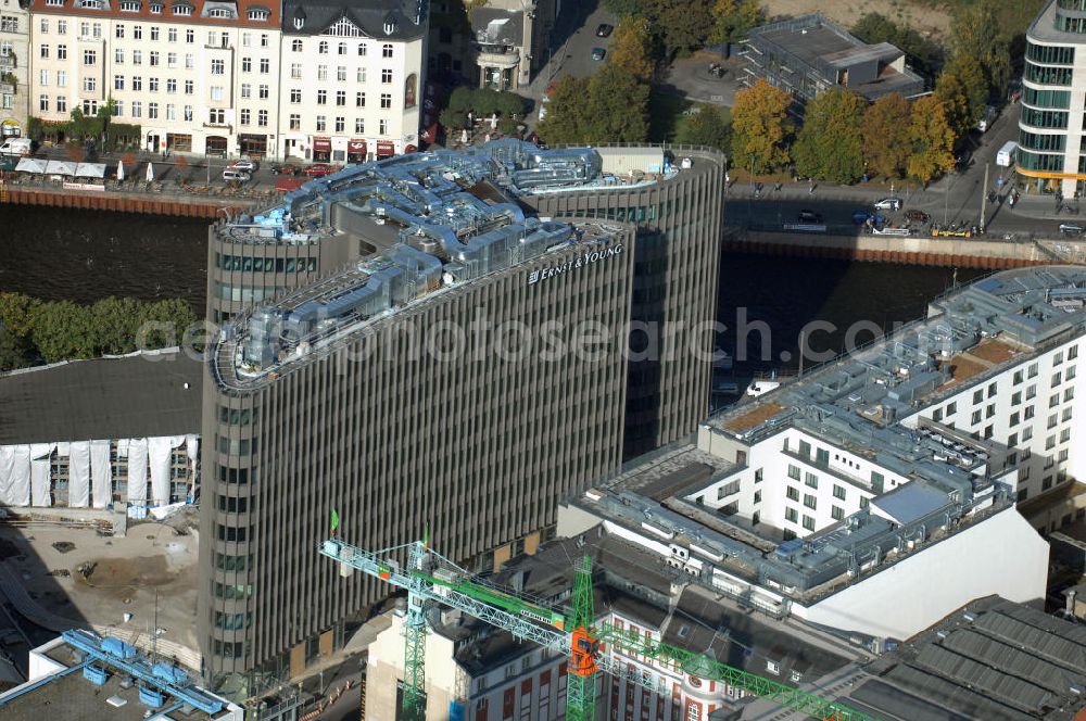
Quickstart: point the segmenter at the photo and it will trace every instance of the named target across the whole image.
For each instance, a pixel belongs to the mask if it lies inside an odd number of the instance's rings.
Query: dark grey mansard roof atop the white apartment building
[[[426,33],[428,4],[428,0],[287,0],[282,4],[282,31],[285,35],[320,35],[341,17],[346,17],[366,37],[414,40]],[[301,28],[294,26],[295,17],[304,20]],[[387,21],[395,27],[392,33],[384,31]]]

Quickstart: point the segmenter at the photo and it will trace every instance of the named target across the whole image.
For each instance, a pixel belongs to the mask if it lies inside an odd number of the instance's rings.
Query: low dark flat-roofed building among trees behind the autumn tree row
[[[745,86],[765,78],[791,93],[797,110],[833,87],[869,101],[924,91],[924,79],[909,69],[905,52],[888,42],[869,46],[820,13],[754,28],[741,54]]]

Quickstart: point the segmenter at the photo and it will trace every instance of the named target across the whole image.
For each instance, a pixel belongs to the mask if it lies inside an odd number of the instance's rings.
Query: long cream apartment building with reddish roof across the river
[[[141,146],[235,156],[275,146],[279,13],[256,0],[31,0],[30,113],[114,103]]]

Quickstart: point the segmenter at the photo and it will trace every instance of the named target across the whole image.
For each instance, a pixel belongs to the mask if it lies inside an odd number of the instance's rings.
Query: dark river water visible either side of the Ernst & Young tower
[[[80,303],[181,298],[202,314],[206,233],[204,219],[2,204],[0,290]],[[962,269],[957,278],[977,275]],[[721,346],[735,355],[742,336],[745,367],[794,368],[805,328],[811,351],[837,352],[855,324],[864,324],[855,341],[870,340],[871,329],[923,315],[954,279],[951,268],[729,255],[721,263],[720,318],[730,330]],[[816,329],[816,320],[836,330]],[[736,332],[755,321],[768,332]]]

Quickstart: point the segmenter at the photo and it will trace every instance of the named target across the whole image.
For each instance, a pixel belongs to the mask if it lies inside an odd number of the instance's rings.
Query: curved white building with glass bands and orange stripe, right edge
[[[1026,31],[1015,172],[1038,191],[1086,192],[1086,2],[1052,0]]]

